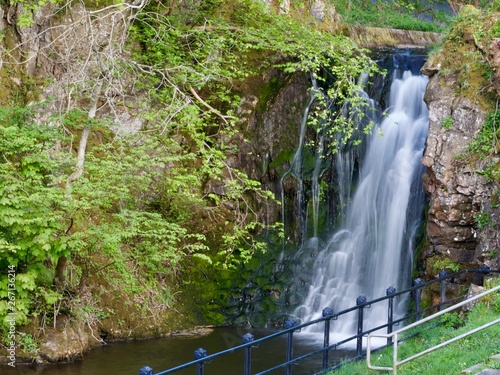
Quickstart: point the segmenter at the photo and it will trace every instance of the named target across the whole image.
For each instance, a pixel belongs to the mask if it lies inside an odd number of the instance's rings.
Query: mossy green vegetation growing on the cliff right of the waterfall
[[[430,74],[439,72],[444,85],[453,87],[457,97],[465,97],[486,113],[477,134],[456,160],[486,177],[489,194],[484,195],[481,212],[475,216],[479,231],[495,230],[500,183],[499,99],[500,93],[500,2],[485,9],[464,6],[447,32],[446,39],[429,58]],[[432,71],[435,69],[435,71]],[[442,122],[446,131],[457,128],[452,116]],[[490,236],[491,235],[487,235]],[[488,258],[498,256],[492,249]]]

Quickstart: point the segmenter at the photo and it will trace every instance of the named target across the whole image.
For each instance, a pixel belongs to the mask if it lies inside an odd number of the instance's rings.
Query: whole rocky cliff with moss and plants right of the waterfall
[[[441,269],[500,266],[495,124],[500,39],[477,33],[479,25],[491,30],[499,15],[467,7],[461,17],[423,68],[430,77],[425,95],[429,134],[422,159],[429,207],[420,266],[428,277]],[[488,129],[485,123],[492,119]]]

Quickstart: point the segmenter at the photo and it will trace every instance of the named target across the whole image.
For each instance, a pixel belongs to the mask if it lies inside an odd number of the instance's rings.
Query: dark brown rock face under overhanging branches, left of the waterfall
[[[290,161],[300,138],[301,119],[309,100],[311,82],[307,75],[287,75],[271,69],[266,75],[248,79],[239,88],[242,100],[238,108],[240,129],[233,140],[239,144],[238,152],[228,158],[228,164],[244,169],[263,187],[274,193],[277,199],[287,197],[285,206],[267,204],[260,207],[266,222],[281,221],[287,216],[290,228],[297,227],[296,181],[281,177],[290,168]],[[244,142],[243,138],[248,139]],[[297,240],[299,234],[291,230],[290,237]]]

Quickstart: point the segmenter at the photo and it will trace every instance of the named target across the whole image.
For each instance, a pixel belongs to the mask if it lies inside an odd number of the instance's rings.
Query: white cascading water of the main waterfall
[[[325,307],[341,311],[355,306],[360,295],[368,301],[385,296],[388,287],[399,289],[408,278],[420,218],[416,211],[423,200],[412,187],[420,181],[428,129],[426,85],[426,77],[409,71],[393,80],[388,116],[365,141],[356,191],[352,198],[342,197],[351,199],[345,221],[318,254],[307,297],[295,311],[302,321],[321,317]],[[340,160],[348,170],[339,171],[339,179],[350,182],[345,174],[352,173],[351,162],[339,156],[337,168]],[[387,323],[387,306],[378,305],[365,309],[365,328]],[[356,315],[351,315],[334,323],[338,334],[355,333]]]

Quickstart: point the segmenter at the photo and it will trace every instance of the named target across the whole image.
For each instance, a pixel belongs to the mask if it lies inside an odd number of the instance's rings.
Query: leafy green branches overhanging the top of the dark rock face
[[[232,3],[230,3],[232,4]],[[175,20],[175,18],[174,18]],[[312,27],[269,12],[260,2],[244,0],[226,6],[220,16],[205,18],[203,25],[189,28],[167,18],[151,19],[149,13],[134,26],[135,40],[142,46],[138,59],[162,71],[179,88],[211,91],[211,102],[224,104],[228,115],[238,105],[237,97],[221,90],[221,84],[244,80],[269,66],[286,73],[310,73],[324,83],[324,97],[341,103],[351,101],[351,118],[327,110],[326,101],[318,110],[323,125],[343,141],[354,132],[352,118],[365,104],[357,95],[357,77],[377,71],[375,64],[348,38],[322,33]],[[254,57],[259,56],[259,60]],[[164,76],[158,77],[163,80]],[[275,84],[271,81],[270,85]],[[272,90],[272,87],[269,87]],[[162,93],[163,94],[163,93]],[[322,96],[318,96],[318,103]],[[265,105],[265,95],[262,103]],[[259,108],[261,108],[259,107]],[[336,145],[332,143],[332,150]]]

